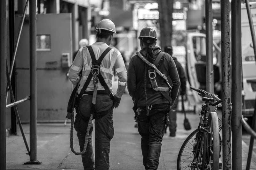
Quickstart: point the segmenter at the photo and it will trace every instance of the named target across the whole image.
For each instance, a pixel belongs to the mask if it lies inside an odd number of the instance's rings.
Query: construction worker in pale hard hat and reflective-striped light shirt
[[[97,41],[79,49],[68,74],[71,82],[76,85],[82,70],[78,88],[81,100],[77,107],[74,129],[77,131],[81,152],[85,147],[86,131],[89,131],[86,152],[82,154],[84,170],[109,169],[110,140],[114,135],[113,108],[119,106],[127,82],[127,70],[121,53],[109,47],[113,34],[116,33],[115,24],[109,19],[103,19],[96,31]],[[115,95],[111,88],[114,71],[118,76]],[[91,74],[93,77],[90,77]],[[84,87],[86,84],[87,87]],[[91,115],[95,119],[95,161],[92,149],[93,127],[88,128]]]

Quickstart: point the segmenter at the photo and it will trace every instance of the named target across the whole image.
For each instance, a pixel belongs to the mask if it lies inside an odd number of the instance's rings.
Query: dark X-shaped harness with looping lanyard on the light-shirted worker
[[[108,85],[106,84],[104,78],[102,77],[101,73],[100,73],[100,64],[103,60],[103,58],[108,54],[108,52],[112,49],[110,47],[108,47],[99,57],[98,60],[96,60],[94,52],[92,50],[92,46],[86,46],[89,50],[89,53],[91,55],[91,59],[92,59],[92,69],[90,74],[88,75],[88,78],[86,79],[83,88],[81,89],[79,95],[76,98],[75,104],[74,104],[74,110],[72,112],[72,119],[71,119],[71,130],[70,130],[70,148],[71,151],[73,153],[75,153],[75,155],[82,155],[86,152],[86,147],[88,144],[88,138],[89,138],[89,132],[92,126],[92,120],[93,118],[95,118],[95,104],[96,104],[96,97],[97,97],[97,89],[98,89],[98,79],[100,81],[100,84],[104,87],[105,91],[104,93],[108,94],[108,96],[113,100],[114,102],[114,95],[113,93],[109,90]],[[74,115],[75,113],[77,113],[78,110],[78,106],[80,103],[80,100],[83,96],[83,94],[85,94],[85,90],[88,87],[91,79],[93,78],[93,84],[94,84],[94,91],[92,93],[92,106],[90,109],[91,115],[89,118],[89,122],[88,122],[88,126],[87,126],[87,130],[86,130],[86,135],[85,135],[85,143],[84,143],[84,149],[82,152],[76,152],[73,148],[73,136],[74,136],[74,132],[73,132],[73,127],[74,127]],[[87,93],[86,93],[87,94]],[[88,93],[90,94],[90,93]],[[106,111],[103,111],[104,113]],[[79,112],[78,112],[79,113]],[[76,114],[76,116],[78,116],[79,118],[84,120],[84,117],[80,114]],[[106,112],[107,113],[107,112]],[[86,120],[85,120],[86,121]],[[87,120],[88,121],[88,120]]]

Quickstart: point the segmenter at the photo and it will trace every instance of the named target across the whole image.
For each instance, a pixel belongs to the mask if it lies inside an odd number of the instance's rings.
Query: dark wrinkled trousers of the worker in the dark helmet
[[[140,114],[137,114],[137,119],[143,165],[146,170],[156,170],[159,165],[168,106],[152,108],[149,115],[145,108],[142,109]]]

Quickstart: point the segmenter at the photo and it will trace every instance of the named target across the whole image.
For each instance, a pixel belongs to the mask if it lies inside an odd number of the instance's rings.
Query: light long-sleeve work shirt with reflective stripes
[[[109,46],[104,42],[95,42],[92,45],[93,52],[95,54],[95,59],[98,60],[100,55],[107,49]],[[68,72],[68,77],[70,81],[76,85],[78,83],[78,74],[82,71],[82,78],[80,81],[80,86],[78,88],[78,94],[84,86],[86,79],[88,78],[92,68],[92,59],[87,47],[80,48],[76,54],[76,57],[70,67]],[[111,49],[108,54],[104,57],[100,64],[100,73],[104,78],[106,84],[108,85],[111,92],[112,90],[112,77],[116,71],[118,76],[118,88],[116,91],[117,97],[121,98],[124,93],[126,82],[127,82],[127,70],[124,65],[124,60],[121,53],[116,49]],[[86,92],[93,91],[93,78],[91,79]],[[104,90],[104,87],[98,81],[98,90]]]

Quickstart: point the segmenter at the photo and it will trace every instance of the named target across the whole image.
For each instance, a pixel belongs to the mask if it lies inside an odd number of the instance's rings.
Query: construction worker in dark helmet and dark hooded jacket
[[[155,170],[169,121],[168,112],[177,98],[180,79],[172,57],[156,46],[157,36],[153,28],[143,28],[139,39],[141,50],[129,63],[127,88],[141,136],[143,165],[147,170]]]

